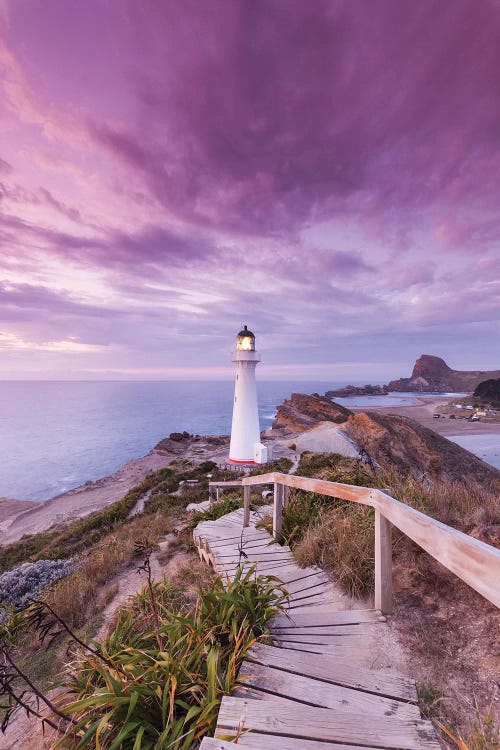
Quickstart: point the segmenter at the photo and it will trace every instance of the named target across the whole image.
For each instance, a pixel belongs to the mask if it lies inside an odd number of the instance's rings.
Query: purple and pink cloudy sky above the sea
[[[500,367],[497,0],[0,0],[0,379]]]

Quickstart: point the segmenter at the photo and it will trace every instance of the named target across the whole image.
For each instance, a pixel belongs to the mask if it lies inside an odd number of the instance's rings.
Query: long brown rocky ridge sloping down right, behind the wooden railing
[[[500,488],[500,471],[408,417],[361,412],[342,427],[381,466],[418,480],[475,483]]]

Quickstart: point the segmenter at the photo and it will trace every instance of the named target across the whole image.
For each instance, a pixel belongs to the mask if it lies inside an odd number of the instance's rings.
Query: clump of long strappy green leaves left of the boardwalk
[[[276,584],[254,571],[227,588],[217,578],[194,611],[168,583],[135,597],[100,647],[107,663],[81,654],[71,667],[62,711],[78,747],[187,750],[212,732],[246,652],[285,602]]]

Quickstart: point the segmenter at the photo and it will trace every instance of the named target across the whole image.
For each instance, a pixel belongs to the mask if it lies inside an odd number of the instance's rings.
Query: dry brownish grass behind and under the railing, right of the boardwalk
[[[334,453],[308,453],[301,457],[297,474],[332,482],[389,488],[393,497],[466,533],[474,531],[494,544],[500,507],[493,493],[477,485],[434,483],[430,489],[412,476],[396,471],[372,471],[358,459]],[[266,522],[269,526],[269,521]],[[264,523],[263,525],[266,525]],[[303,565],[320,565],[353,596],[373,592],[374,517],[366,506],[302,490],[292,490],[283,513],[282,543],[289,544]],[[422,550],[395,530],[396,563],[411,564],[429,574]],[[432,575],[435,575],[434,573]]]

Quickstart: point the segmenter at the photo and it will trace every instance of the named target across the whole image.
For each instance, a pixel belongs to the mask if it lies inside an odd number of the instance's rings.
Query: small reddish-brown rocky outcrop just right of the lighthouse
[[[278,413],[273,422],[273,430],[283,432],[303,432],[314,427],[318,422],[345,422],[352,412],[336,404],[325,396],[313,393],[292,393],[278,406]]]

